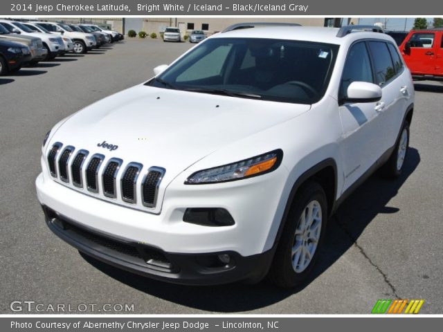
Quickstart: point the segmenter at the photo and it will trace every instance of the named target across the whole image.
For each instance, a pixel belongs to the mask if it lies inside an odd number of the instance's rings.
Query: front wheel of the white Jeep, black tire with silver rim
[[[303,185],[287,216],[280,242],[269,270],[271,282],[293,288],[307,280],[323,243],[327,201],[316,182]]]

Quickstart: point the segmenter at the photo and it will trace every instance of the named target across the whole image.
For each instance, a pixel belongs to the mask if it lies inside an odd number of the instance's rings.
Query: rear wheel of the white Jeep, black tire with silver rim
[[[405,137],[406,135],[406,145]],[[408,156],[409,149],[409,123],[405,121],[403,127],[401,127],[399,137],[395,143],[394,151],[390,155],[388,161],[381,167],[381,175],[384,178],[398,178],[404,168],[404,163],[406,162],[406,157]],[[401,161],[398,160],[402,155]],[[397,162],[398,160],[398,162]]]

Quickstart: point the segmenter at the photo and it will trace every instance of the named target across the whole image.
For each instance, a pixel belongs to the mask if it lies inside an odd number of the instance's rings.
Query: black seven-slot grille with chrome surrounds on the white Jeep
[[[101,192],[109,198],[121,199],[125,203],[136,204],[138,196],[145,207],[155,208],[165,169],[150,167],[145,172],[143,181],[138,182],[138,176],[143,172],[141,163],[127,163],[123,172],[120,172],[122,159],[106,160],[102,154],[93,154],[88,158],[87,150],[75,149],[71,145],[63,149],[62,147],[61,142],[56,142],[48,151],[46,158],[51,176],[60,178],[66,184],[72,181],[75,187],[87,187],[89,192]],[[101,166],[102,163],[105,163],[105,167]]]

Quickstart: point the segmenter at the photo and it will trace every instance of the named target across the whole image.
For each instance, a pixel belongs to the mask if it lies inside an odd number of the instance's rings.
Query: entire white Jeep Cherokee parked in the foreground
[[[36,185],[55,234],[168,282],[291,287],[356,185],[401,173],[414,89],[391,37],[237,28],[53,127]]]

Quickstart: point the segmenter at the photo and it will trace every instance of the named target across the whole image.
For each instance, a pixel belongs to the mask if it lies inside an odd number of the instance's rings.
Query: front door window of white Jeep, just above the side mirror
[[[343,76],[341,77],[339,99],[346,98],[347,87],[352,82],[374,82],[365,42],[354,44],[347,53]]]

